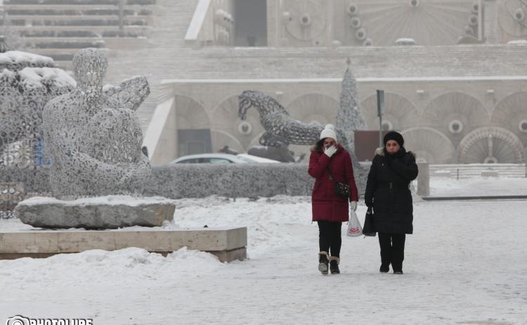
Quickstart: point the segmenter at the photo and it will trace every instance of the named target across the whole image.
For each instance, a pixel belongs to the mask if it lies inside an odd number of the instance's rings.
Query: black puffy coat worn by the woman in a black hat
[[[377,149],[367,175],[365,203],[373,207],[375,231],[389,234],[413,232],[410,182],[417,178],[412,152],[404,147],[396,154]]]

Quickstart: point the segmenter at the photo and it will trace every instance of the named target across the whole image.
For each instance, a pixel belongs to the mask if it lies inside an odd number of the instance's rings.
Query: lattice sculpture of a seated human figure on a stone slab
[[[138,194],[150,176],[134,111],[103,93],[107,67],[102,51],[82,49],[73,58],[77,88],[44,108],[55,197]]]

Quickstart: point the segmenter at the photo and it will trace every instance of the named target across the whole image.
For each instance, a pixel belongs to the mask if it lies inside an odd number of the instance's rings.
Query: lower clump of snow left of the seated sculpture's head
[[[20,70],[20,82],[27,87],[43,87],[55,81],[57,86],[76,86],[77,82],[63,69],[54,67],[25,67]]]

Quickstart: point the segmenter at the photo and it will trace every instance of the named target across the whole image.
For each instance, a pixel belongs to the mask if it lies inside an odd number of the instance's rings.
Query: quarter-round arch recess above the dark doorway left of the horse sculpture
[[[197,100],[186,95],[174,95],[174,107],[178,130],[210,128],[207,111]]]

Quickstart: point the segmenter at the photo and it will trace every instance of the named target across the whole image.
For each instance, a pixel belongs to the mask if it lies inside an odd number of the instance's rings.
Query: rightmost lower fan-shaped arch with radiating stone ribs
[[[464,164],[481,164],[490,158],[500,164],[518,164],[523,162],[523,157],[519,138],[497,126],[477,128],[457,147],[457,161]]]

